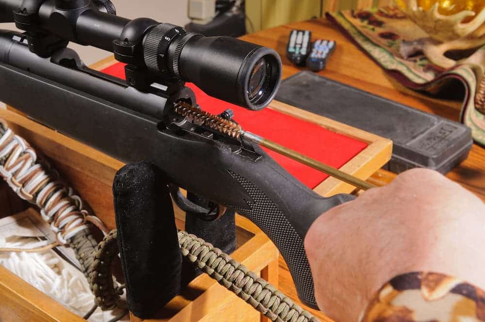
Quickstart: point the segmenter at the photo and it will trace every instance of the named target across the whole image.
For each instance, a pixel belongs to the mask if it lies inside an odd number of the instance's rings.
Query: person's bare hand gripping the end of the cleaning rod
[[[355,322],[391,278],[431,271],[485,289],[485,205],[437,172],[413,169],[330,209],[305,248],[320,309]]]

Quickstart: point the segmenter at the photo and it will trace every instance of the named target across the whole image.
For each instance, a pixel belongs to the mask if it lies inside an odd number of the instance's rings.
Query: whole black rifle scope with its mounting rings
[[[0,0],[0,22],[41,35],[42,44],[57,37],[50,48],[72,41],[112,51],[153,82],[190,81],[210,96],[251,110],[275,97],[281,79],[281,59],[270,48],[205,37],[149,18],[118,17],[109,0]],[[136,87],[135,81],[130,84]]]

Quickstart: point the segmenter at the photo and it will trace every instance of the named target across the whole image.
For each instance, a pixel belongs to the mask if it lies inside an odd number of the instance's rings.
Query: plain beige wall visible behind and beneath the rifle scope
[[[187,0],[112,0],[118,16],[126,18],[149,17],[160,22],[184,26],[187,18]],[[15,29],[14,24],[0,24],[1,29]],[[108,57],[109,52],[92,47],[69,44],[86,64],[93,64]]]

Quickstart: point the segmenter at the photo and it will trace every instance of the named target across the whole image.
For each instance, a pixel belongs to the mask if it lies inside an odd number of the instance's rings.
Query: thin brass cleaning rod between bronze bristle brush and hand
[[[307,157],[306,155],[303,155],[299,152],[296,152],[286,146],[279,145],[273,141],[270,141],[268,139],[265,139],[257,134],[251,133],[244,131],[243,134],[244,138],[252,141],[254,143],[257,143],[259,145],[262,145],[264,147],[267,147],[268,149],[275,151],[279,154],[282,154],[284,156],[287,156],[290,159],[293,159],[295,161],[301,162],[303,164],[306,164],[313,169],[317,169],[319,171],[322,171],[323,173],[326,173],[327,175],[331,177],[336,177],[337,179],[346,182],[348,184],[351,184],[357,188],[360,188],[362,190],[368,190],[371,188],[375,188],[373,184],[366,182],[364,180],[361,180],[357,177],[354,177],[352,175],[349,175],[343,171],[340,171],[339,169],[336,169],[330,165],[324,164],[320,161],[314,160],[310,157]]]

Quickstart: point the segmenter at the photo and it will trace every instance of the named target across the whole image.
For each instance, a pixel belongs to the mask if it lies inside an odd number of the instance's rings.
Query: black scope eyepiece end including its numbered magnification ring
[[[205,37],[160,24],[143,42],[146,66],[193,82],[208,95],[250,110],[266,107],[281,81],[281,59],[270,48],[232,37]]]

